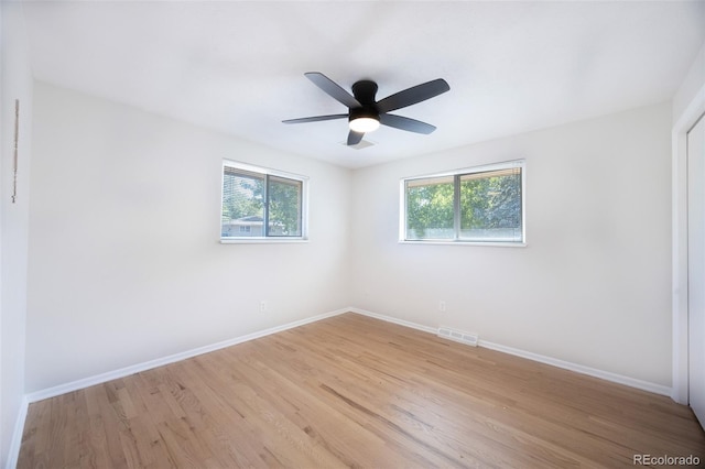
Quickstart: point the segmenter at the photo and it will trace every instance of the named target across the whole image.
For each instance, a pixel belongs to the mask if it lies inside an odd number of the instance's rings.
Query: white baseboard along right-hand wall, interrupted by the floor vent
[[[430,332],[430,334],[433,334],[433,335],[437,334],[437,329],[433,328],[433,327],[430,327],[430,326],[423,326],[421,324],[414,324],[414,323],[410,323],[408,320],[398,319],[395,317],[386,316],[386,315],[378,314],[378,313],[371,313],[371,312],[368,312],[368,310],[365,310],[365,309],[359,309],[359,308],[354,308],[354,307],[349,308],[349,310],[352,312],[352,313],[357,313],[357,314],[361,314],[361,315],[365,315],[365,316],[373,317],[376,319],[381,319],[381,320],[386,320],[388,323],[398,324],[400,326],[405,326],[405,327],[411,327],[413,329],[423,330],[424,332]],[[598,369],[595,369],[595,368],[585,367],[583,364],[572,363],[570,361],[558,360],[557,358],[546,357],[546,356],[542,356],[542,355],[539,355],[539,353],[533,353],[533,352],[530,352],[530,351],[516,349],[513,347],[507,347],[507,346],[502,346],[500,343],[489,342],[489,341],[482,340],[482,339],[480,339],[477,345],[478,345],[478,347],[485,347],[487,349],[501,351],[503,353],[513,355],[513,356],[517,356],[517,357],[521,357],[521,358],[525,358],[525,359],[529,359],[529,360],[538,361],[540,363],[551,364],[553,367],[562,368],[564,370],[575,371],[576,373],[587,374],[587,375],[594,377],[594,378],[599,378],[599,379],[605,380],[605,381],[610,381],[610,382],[618,383],[618,384],[625,384],[627,386],[636,388],[636,389],[639,389],[639,390],[642,390],[642,391],[649,391],[649,392],[652,392],[654,394],[661,394],[661,395],[665,395],[665,396],[671,396],[671,392],[672,392],[671,388],[664,386],[662,384],[657,384],[657,383],[652,383],[652,382],[649,382],[649,381],[642,381],[642,380],[638,380],[636,378],[629,378],[629,377],[625,377],[625,375],[621,375],[621,374],[612,373],[612,372],[609,372],[609,371],[598,370]]]

